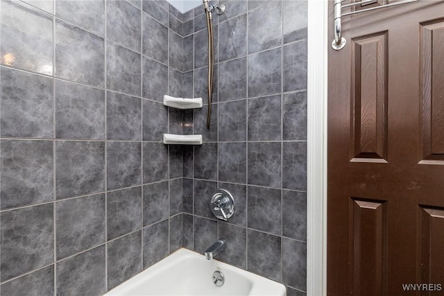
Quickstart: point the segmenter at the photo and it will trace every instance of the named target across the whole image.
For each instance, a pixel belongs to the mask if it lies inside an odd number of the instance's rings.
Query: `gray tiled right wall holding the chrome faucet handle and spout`
[[[282,282],[288,295],[305,295],[307,1],[221,3],[211,129],[204,106],[186,131],[203,134],[205,143],[184,150],[184,246],[203,252],[225,238],[219,259]],[[184,92],[205,102],[202,12],[184,19],[183,71]],[[228,223],[214,219],[207,205],[216,188],[234,195]]]

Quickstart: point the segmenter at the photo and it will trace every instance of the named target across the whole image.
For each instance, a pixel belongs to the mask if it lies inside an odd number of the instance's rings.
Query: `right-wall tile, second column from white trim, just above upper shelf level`
[[[248,55],[248,97],[278,94],[282,90],[282,49]]]

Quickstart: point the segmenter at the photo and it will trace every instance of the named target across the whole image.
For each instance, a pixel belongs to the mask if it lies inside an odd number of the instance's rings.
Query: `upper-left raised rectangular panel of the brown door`
[[[352,160],[386,158],[387,34],[352,40]]]

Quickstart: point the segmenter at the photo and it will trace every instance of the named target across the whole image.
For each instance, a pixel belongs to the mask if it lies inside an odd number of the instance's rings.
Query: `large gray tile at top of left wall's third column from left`
[[[141,12],[126,1],[106,2],[106,37],[140,52]]]

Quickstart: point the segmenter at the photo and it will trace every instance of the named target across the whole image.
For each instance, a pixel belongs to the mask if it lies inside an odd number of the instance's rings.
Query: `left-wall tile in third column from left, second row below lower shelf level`
[[[106,201],[108,241],[142,228],[142,187],[109,192]]]

